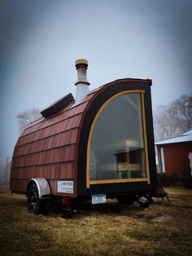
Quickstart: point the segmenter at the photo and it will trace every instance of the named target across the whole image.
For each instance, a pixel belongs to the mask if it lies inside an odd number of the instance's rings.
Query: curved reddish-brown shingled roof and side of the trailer
[[[92,90],[81,104],[75,105],[72,98],[62,106],[57,101],[59,108],[56,113],[54,110],[52,116],[46,115],[34,121],[20,135],[13,153],[11,179],[37,178],[42,177],[42,173],[46,179],[76,179],[78,144],[85,113],[103,90],[120,82],[147,82],[151,85],[151,80],[125,78]],[[46,109],[49,112],[54,106],[52,104]]]

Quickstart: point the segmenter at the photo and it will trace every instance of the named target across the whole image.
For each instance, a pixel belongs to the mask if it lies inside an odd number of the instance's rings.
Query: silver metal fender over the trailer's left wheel
[[[37,185],[40,199],[46,199],[50,197],[50,185],[45,178],[30,179],[28,181],[28,188],[32,183],[35,183]]]

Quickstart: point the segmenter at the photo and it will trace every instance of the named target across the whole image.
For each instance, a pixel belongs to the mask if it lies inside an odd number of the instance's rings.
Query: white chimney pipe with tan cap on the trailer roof
[[[76,60],[77,82],[76,85],[76,102],[81,103],[81,100],[89,94],[89,82],[87,81],[88,61],[85,59]]]

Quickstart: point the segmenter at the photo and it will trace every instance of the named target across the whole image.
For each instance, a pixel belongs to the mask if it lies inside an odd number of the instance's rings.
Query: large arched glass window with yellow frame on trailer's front
[[[94,118],[88,143],[87,181],[148,180],[143,92],[113,96]]]

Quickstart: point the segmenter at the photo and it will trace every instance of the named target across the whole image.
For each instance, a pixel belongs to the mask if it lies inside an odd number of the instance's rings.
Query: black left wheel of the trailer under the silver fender
[[[39,198],[37,185],[33,183],[27,192],[28,196],[28,212],[31,214],[45,214],[46,201]]]

